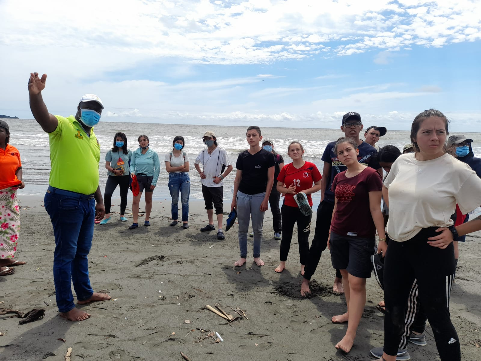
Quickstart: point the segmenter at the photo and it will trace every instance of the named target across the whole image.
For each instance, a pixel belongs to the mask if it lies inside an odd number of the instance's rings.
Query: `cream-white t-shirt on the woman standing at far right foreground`
[[[400,155],[384,181],[389,189],[389,237],[413,238],[422,228],[449,227],[456,203],[461,212],[481,205],[481,179],[466,163],[445,154],[419,161]]]

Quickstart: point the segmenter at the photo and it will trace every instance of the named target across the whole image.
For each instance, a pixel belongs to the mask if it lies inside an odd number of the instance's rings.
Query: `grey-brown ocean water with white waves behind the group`
[[[20,190],[19,195],[31,194],[43,196],[48,186],[50,172],[48,134],[45,133],[33,119],[5,120],[10,127],[10,144],[20,151],[22,158],[25,189]],[[271,139],[274,142],[274,149],[283,156],[286,163],[291,162],[289,156],[287,156],[287,147],[291,141],[297,140],[300,141],[304,147],[304,159],[315,163],[321,173],[323,168],[321,157],[326,145],[343,135],[341,129],[272,128],[263,127],[261,124],[257,125],[260,126],[263,137]],[[101,145],[99,174],[102,193],[107,180],[107,169],[105,169],[104,166],[104,157],[113,145],[114,134],[117,131],[122,131],[127,135],[129,149],[137,149],[138,136],[145,134],[149,137],[151,148],[159,154],[161,171],[157,183],[158,187],[154,191],[154,198],[156,199],[165,198],[169,195],[167,187],[168,174],[165,171],[164,155],[172,150],[172,140],[174,137],[176,135],[183,136],[185,139],[184,150],[189,154],[190,158],[190,197],[202,199],[200,177],[195,171],[194,160],[205,147],[202,142],[204,132],[206,130],[213,130],[217,136],[219,146],[227,150],[230,161],[234,166],[234,170],[224,181],[224,198],[230,199],[231,193],[228,192],[228,190],[233,185],[237,156],[248,148],[245,139],[246,129],[246,127],[235,126],[101,121],[95,127],[95,134]],[[475,156],[481,157],[481,133],[464,132],[464,135],[473,139],[473,152]],[[361,132],[361,138],[363,138],[363,136],[364,133]],[[387,134],[380,138],[378,144],[380,147],[392,144],[402,150],[403,146],[408,142],[409,131],[388,130]],[[118,188],[116,193],[114,193],[114,198],[115,197],[118,197]],[[316,194],[314,197],[320,198],[320,195]]]

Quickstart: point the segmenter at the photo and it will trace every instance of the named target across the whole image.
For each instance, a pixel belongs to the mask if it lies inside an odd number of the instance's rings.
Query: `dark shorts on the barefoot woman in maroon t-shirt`
[[[359,278],[371,277],[371,255],[374,254],[375,237],[342,236],[331,232],[330,253],[332,267],[347,270]]]

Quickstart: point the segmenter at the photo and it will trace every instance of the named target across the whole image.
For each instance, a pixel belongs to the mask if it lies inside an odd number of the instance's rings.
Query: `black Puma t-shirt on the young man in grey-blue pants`
[[[239,191],[245,194],[266,192],[267,169],[274,167],[274,164],[274,155],[265,149],[254,155],[247,150],[242,152],[236,163],[236,168],[242,171]]]

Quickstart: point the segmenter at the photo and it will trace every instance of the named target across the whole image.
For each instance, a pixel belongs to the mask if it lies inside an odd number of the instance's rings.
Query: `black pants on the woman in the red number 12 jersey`
[[[309,256],[309,234],[311,233],[312,214],[304,216],[299,207],[282,205],[282,241],[280,241],[280,260],[285,262],[291,248],[292,232],[297,223],[297,242],[299,244],[300,263],[305,265]]]

